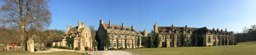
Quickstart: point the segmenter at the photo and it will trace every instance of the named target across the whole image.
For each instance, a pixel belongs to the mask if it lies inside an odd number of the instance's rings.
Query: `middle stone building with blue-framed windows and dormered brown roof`
[[[109,24],[103,23],[103,20],[100,20],[100,26],[97,31],[97,35],[99,37],[98,41],[100,43],[100,47],[98,47],[99,50],[106,50],[104,47],[104,39],[106,32],[109,34],[110,38],[110,48],[137,48],[138,46],[141,47],[141,45],[137,45],[137,39],[141,39],[143,37],[143,34],[141,34],[141,31],[136,31],[133,26],[131,27],[125,27],[124,23],[122,26],[120,25],[113,25],[111,24],[111,21],[109,21]]]

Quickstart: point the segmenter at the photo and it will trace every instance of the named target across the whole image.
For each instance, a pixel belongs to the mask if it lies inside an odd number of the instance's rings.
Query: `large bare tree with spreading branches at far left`
[[[0,10],[1,24],[18,31],[21,50],[25,50],[29,29],[42,30],[51,23],[51,12],[46,0],[2,0]],[[33,31],[32,31],[33,32]],[[32,33],[30,32],[30,33]]]

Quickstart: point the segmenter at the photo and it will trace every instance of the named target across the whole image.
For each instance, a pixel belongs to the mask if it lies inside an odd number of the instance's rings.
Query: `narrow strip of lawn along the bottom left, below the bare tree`
[[[4,51],[0,52],[0,55],[85,55],[79,52],[69,52],[69,51],[57,51],[50,53],[33,53],[29,51]],[[90,54],[86,54],[90,55]]]

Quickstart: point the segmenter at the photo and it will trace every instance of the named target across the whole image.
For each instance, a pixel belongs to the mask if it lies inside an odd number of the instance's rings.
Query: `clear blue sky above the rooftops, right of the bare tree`
[[[100,20],[148,32],[156,22],[235,32],[256,24],[256,0],[51,0],[48,5],[52,13],[48,29],[67,30],[67,25],[76,27],[81,21],[97,30]]]

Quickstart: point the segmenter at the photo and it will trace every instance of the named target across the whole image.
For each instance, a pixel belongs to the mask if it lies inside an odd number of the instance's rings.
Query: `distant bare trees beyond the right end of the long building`
[[[233,34],[237,42],[256,41],[256,25],[251,25],[250,27],[244,26],[241,32],[237,31]]]

